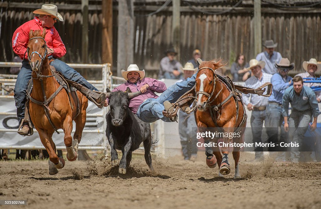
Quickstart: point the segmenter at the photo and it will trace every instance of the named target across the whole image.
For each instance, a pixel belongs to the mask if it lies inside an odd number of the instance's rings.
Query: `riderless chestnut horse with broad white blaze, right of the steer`
[[[227,85],[217,76],[215,69],[225,65],[221,59],[212,61],[202,61],[198,59],[199,71],[196,76],[196,113],[195,119],[200,132],[208,127],[216,127],[221,133],[239,133],[233,137],[233,142],[242,142],[242,135],[246,127],[247,115],[242,100],[237,98],[235,89],[229,90]],[[239,127],[236,129],[236,127]],[[235,130],[236,129],[236,130]],[[232,141],[224,134],[223,141],[229,143]],[[238,137],[239,136],[239,137]],[[206,148],[206,164],[210,168],[219,165],[219,176],[230,173],[228,161],[229,147],[221,147],[221,152],[217,146],[218,139],[204,138],[205,143],[214,142],[213,150]],[[235,161],[234,178],[240,178],[239,174],[239,148],[233,149],[233,158]],[[214,154],[214,155],[213,155]]]

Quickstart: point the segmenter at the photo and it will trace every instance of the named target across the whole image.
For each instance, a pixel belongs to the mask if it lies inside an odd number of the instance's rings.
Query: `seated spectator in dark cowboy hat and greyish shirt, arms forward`
[[[175,60],[177,52],[175,52],[174,49],[168,49],[165,54],[166,57],[160,60],[160,72],[158,78],[182,79],[182,65],[179,61]]]

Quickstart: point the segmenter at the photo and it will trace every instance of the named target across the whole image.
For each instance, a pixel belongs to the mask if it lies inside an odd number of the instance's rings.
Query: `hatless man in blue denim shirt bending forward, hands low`
[[[289,103],[291,103],[291,115],[289,117]],[[299,148],[302,145],[303,136],[308,130],[308,125],[313,115],[311,131],[317,128],[319,107],[316,95],[308,86],[303,86],[300,76],[293,78],[293,86],[287,88],[282,98],[284,131],[289,132],[289,139],[293,143],[299,143],[299,147],[291,147],[292,162],[299,162]]]

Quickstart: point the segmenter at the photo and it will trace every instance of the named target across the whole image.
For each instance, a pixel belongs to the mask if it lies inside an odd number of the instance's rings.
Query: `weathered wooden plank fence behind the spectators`
[[[0,3],[3,9],[1,13],[0,60],[11,61],[14,56],[11,47],[14,30],[22,23],[32,19],[32,11],[39,8],[42,3],[23,3],[29,5],[28,7],[23,7],[23,5],[20,7],[8,6],[13,3],[6,4],[5,7],[5,3]],[[91,3],[92,1],[90,1]],[[101,47],[103,47],[101,45],[102,16],[99,4],[100,2],[89,7],[89,63],[101,63]],[[57,5],[65,20],[55,24],[67,49],[67,54],[62,60],[81,62],[82,14],[75,6],[71,7],[63,3]],[[172,47],[170,39],[171,6],[157,14],[142,16],[157,8],[159,6],[135,6],[134,11],[134,60],[140,68],[150,70],[159,68],[159,62],[165,56],[165,50]],[[226,5],[225,7],[207,5],[202,8],[204,11],[215,12],[228,7]],[[113,62],[115,63],[114,70],[116,70],[117,5],[114,5],[113,9]],[[262,8],[262,42],[266,39],[273,39],[274,42],[277,42],[276,51],[294,62],[295,72],[300,72],[303,70],[303,60],[309,60],[312,57],[318,61],[321,60],[320,17],[320,4],[310,9]],[[195,48],[202,51],[204,60],[221,57],[231,64],[238,53],[244,53],[247,61],[255,58],[252,19],[252,6],[243,5],[221,15],[195,12],[186,5],[182,6],[181,63],[184,64],[191,59],[191,53]],[[153,74],[156,75],[157,73],[153,72]]]

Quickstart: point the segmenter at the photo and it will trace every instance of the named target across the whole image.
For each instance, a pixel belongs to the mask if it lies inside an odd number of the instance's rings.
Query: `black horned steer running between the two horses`
[[[109,89],[107,89],[107,92],[110,92]],[[132,160],[132,152],[138,149],[143,142],[146,163],[150,170],[153,171],[150,153],[152,144],[151,125],[141,121],[128,108],[129,99],[139,95],[140,92],[132,93],[127,88],[126,92],[118,91],[107,94],[110,110],[106,115],[106,136],[111,147],[111,165],[118,164],[116,149],[121,150],[123,157],[120,160],[118,172],[125,174],[126,166],[129,166]]]

